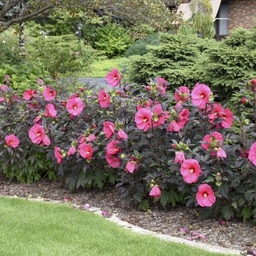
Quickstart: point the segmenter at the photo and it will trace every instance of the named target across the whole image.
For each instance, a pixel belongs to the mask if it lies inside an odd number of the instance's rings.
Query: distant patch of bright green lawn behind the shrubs
[[[83,74],[84,77],[105,77],[112,68],[122,71],[123,67],[128,65],[128,58],[96,58],[92,64],[92,73]]]

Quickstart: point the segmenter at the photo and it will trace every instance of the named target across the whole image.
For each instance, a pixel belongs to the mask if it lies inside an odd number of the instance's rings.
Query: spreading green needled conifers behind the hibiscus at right
[[[143,56],[130,57],[130,79],[143,82],[160,76],[172,83],[194,86],[205,83],[230,98],[239,82],[256,75],[256,27],[250,31],[236,28],[222,41],[198,38],[196,35],[160,35],[159,46],[149,46]]]

